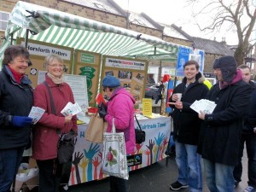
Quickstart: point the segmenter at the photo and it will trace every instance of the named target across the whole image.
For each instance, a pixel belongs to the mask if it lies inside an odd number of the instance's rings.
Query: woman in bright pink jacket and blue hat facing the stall
[[[100,116],[108,122],[107,131],[112,130],[112,119],[117,132],[124,132],[126,153],[135,149],[135,128],[133,108],[135,99],[120,86],[119,79],[107,75],[102,81],[103,91],[109,97],[107,108],[99,106]],[[110,192],[126,192],[125,179],[110,176]]]

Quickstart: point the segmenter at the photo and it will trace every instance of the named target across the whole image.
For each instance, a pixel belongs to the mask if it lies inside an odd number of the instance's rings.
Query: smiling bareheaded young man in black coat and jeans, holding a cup
[[[178,190],[189,187],[191,192],[202,191],[201,156],[196,153],[201,119],[190,107],[195,100],[207,96],[207,85],[203,84],[199,65],[196,61],[187,61],[183,67],[184,79],[173,90],[170,107],[174,123],[174,140],[176,148],[176,162],[178,167],[177,181],[170,185],[170,189]],[[182,98],[177,97],[182,94]]]

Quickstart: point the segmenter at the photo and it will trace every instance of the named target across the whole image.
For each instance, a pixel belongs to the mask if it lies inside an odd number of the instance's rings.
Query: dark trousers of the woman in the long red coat
[[[61,192],[68,184],[71,172],[71,160],[60,164],[57,159],[37,160],[39,168],[39,192]]]

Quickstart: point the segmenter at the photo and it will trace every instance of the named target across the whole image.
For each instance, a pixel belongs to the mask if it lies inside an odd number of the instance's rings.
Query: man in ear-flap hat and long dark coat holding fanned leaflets
[[[234,191],[233,170],[239,157],[239,138],[243,115],[247,111],[251,87],[236,70],[233,56],[223,56],[213,64],[218,84],[214,84],[207,99],[217,104],[211,114],[199,113],[203,119],[198,152],[206,172],[211,192]]]

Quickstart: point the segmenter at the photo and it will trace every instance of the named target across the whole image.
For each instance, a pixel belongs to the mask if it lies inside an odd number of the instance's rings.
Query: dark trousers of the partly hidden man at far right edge
[[[241,158],[243,155],[244,143],[246,143],[248,157],[248,185],[256,188],[256,134],[242,134],[239,148],[239,163],[235,166],[233,175],[237,182],[241,182]]]

